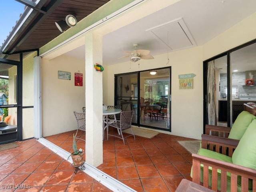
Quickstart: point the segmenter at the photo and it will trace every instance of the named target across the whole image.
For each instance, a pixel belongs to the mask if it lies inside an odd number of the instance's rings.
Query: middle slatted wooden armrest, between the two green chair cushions
[[[202,148],[232,157],[239,140],[202,134]]]

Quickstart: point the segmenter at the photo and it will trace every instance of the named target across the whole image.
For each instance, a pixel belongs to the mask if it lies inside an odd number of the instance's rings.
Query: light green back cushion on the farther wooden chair
[[[236,118],[228,138],[240,140],[250,125],[250,123],[256,119],[256,116],[250,114],[248,111],[242,111]]]

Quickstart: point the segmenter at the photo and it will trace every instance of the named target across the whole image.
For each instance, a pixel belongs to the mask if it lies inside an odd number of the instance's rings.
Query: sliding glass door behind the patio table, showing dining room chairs
[[[170,131],[170,85],[170,68],[118,74],[115,105],[135,110],[134,125]]]

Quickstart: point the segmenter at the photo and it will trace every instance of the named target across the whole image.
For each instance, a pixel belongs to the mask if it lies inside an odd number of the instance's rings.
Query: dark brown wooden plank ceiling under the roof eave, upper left
[[[74,14],[79,22],[108,1],[110,0],[41,0],[44,4],[38,3],[37,6],[46,13],[34,10],[34,16],[26,20],[24,29],[12,38],[3,53],[10,54],[6,56],[10,60],[19,60],[19,56],[13,53],[39,49],[61,34],[55,22],[65,20],[68,14]],[[28,53],[24,53],[24,56],[26,54]]]

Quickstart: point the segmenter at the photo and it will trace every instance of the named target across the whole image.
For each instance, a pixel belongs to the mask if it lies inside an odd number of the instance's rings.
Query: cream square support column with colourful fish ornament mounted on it
[[[94,65],[102,64],[102,36],[88,32],[85,40],[86,162],[103,163],[102,147],[102,73]]]

